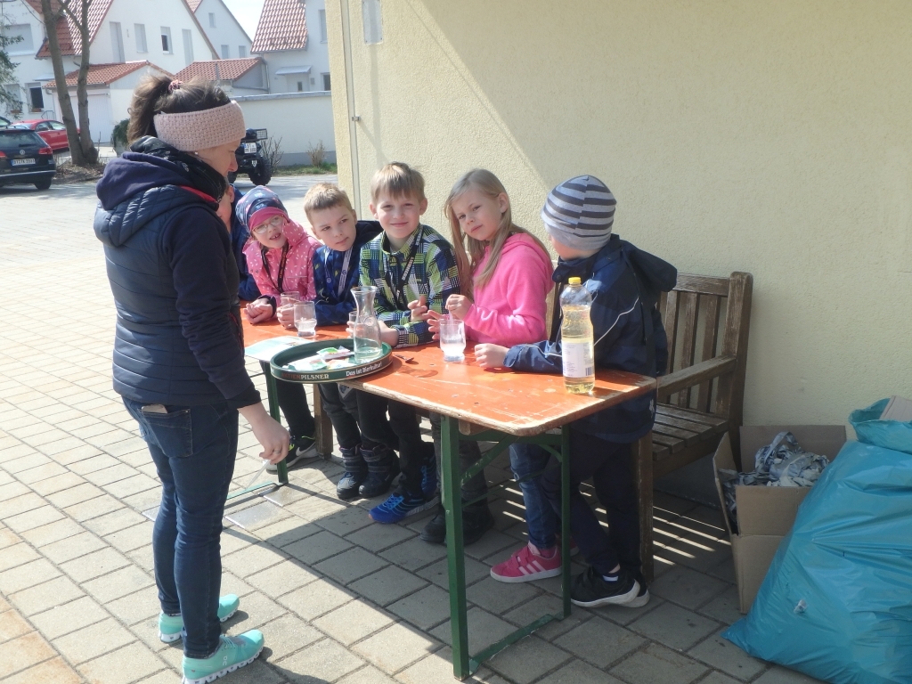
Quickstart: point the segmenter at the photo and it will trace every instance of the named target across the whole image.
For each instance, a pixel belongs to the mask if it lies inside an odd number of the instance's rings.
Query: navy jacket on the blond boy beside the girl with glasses
[[[348,314],[355,310],[355,297],[351,288],[358,285],[361,275],[361,247],[368,244],[382,230],[378,221],[358,221],[358,233],[352,244],[351,258],[342,296],[338,295],[339,278],[345,262],[345,252],[337,252],[326,245],[314,254],[314,284],[316,285],[316,325],[335,326],[348,322]]]

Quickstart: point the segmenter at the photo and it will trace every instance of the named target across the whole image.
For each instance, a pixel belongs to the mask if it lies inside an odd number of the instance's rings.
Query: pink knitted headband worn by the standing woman
[[[152,118],[159,140],[183,152],[219,147],[244,138],[244,112],[232,100],[222,107],[156,114]]]

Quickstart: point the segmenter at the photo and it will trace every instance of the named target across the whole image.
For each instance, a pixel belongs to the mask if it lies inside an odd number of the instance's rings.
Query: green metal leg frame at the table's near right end
[[[552,620],[563,620],[570,616],[570,432],[567,426],[559,434],[545,432],[532,437],[516,437],[497,430],[483,430],[472,435],[459,431],[459,420],[442,416],[440,420],[440,470],[442,483],[440,493],[447,522],[447,570],[450,578],[450,618],[452,628],[453,677],[466,679],[488,658],[503,648],[532,634]],[[465,472],[460,472],[460,440],[493,441],[494,446]],[[465,596],[465,554],[462,544],[462,507],[472,502],[463,502],[461,485],[491,461],[506,451],[511,444],[537,444],[553,454],[560,461],[561,468],[561,595],[563,610],[558,615],[544,615],[534,622],[520,627],[512,634],[491,644],[472,655],[469,652],[469,623]],[[535,472],[528,478],[539,475]],[[528,479],[523,478],[523,479]],[[497,487],[506,487],[515,481],[503,482]]]

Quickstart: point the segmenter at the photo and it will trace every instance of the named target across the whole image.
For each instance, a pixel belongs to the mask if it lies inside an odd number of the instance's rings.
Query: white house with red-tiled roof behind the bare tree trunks
[[[17,30],[23,32],[20,35],[26,34],[27,26],[31,38],[34,57],[27,59],[23,54],[21,60],[17,59],[20,64],[16,67],[17,85],[24,101],[34,110],[33,116],[59,119],[54,68],[41,18],[41,0],[5,0],[0,2],[0,7],[15,16]],[[138,82],[142,74],[150,71],[175,74],[197,59],[217,57],[185,0],[93,0],[88,19],[90,72],[93,74],[88,112],[92,138],[101,143],[110,140],[115,123],[129,116],[129,93],[133,86],[128,87],[128,84],[135,85],[134,81]],[[57,39],[64,57],[67,82],[72,80],[75,87],[74,72],[78,70],[80,60],[77,27],[61,18],[57,22]],[[40,101],[36,84],[44,87]],[[75,88],[70,94],[75,100]],[[24,111],[15,118],[26,119],[30,113]]]

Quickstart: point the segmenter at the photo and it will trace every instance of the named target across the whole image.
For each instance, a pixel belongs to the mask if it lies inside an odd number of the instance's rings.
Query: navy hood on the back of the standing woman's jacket
[[[181,206],[214,206],[193,188],[191,173],[181,163],[140,152],[125,152],[110,161],[96,193],[95,234],[114,247],[165,212]]]

